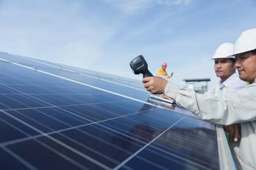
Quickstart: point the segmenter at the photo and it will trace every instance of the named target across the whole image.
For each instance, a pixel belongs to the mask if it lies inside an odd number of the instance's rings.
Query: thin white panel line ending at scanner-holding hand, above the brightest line
[[[24,57],[23,57],[23,58],[24,58]],[[24,58],[24,59],[31,60],[31,61],[34,61],[34,62],[38,62],[38,63],[40,63],[40,64],[45,64],[45,65],[48,65],[48,66],[52,66],[52,67],[55,67],[55,68],[59,68],[59,69],[62,69],[62,70],[74,72],[73,70],[66,69],[66,68],[61,68],[61,67],[58,67],[58,66],[55,66],[55,65],[52,65],[52,64],[47,64],[47,63],[45,63],[45,62],[40,62],[40,61],[36,61],[36,60],[33,60],[33,59],[29,59],[29,58]],[[121,86],[124,86],[124,87],[130,87],[130,88],[133,88],[133,89],[136,89],[136,90],[141,90],[141,91],[147,92],[146,90],[142,90],[142,89],[135,88],[135,87],[132,87],[132,86],[127,86],[127,85],[124,85],[124,84],[121,84],[121,83],[116,83],[116,82],[113,82],[113,81],[109,81],[109,80],[97,78],[97,77],[94,77],[94,76],[86,75],[86,74],[83,74],[83,73],[81,73],[81,72],[75,72],[75,73],[77,73],[77,74],[79,74],[79,75],[82,75],[82,76],[87,76],[87,77],[91,77],[91,78],[94,78],[94,79],[102,80],[102,81],[105,81],[105,82],[109,82],[109,83],[121,85]]]

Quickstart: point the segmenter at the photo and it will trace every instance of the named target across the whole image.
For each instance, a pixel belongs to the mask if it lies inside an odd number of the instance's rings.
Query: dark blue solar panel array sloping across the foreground
[[[2,55],[15,62],[0,62],[2,169],[220,168],[214,125],[136,88]]]

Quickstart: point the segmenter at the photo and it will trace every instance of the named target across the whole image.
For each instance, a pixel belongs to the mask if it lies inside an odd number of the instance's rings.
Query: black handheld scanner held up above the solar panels
[[[151,72],[148,71],[146,60],[144,59],[144,57],[142,55],[139,55],[138,57],[133,59],[130,62],[130,66],[131,66],[132,70],[134,71],[135,75],[139,75],[140,73],[142,73],[143,78],[153,76],[151,74]]]

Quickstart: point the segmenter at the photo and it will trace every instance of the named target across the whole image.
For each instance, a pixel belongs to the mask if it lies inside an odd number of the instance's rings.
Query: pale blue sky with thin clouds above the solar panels
[[[143,55],[153,74],[167,62],[179,85],[215,82],[212,55],[256,28],[255,8],[254,0],[0,0],[0,51],[135,79],[129,63]]]

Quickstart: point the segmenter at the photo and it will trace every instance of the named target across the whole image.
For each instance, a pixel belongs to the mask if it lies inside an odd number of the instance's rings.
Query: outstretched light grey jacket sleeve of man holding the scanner
[[[167,83],[164,93],[176,103],[208,122],[220,125],[249,122],[256,119],[256,85],[247,86],[222,98],[207,98],[194,90]]]

